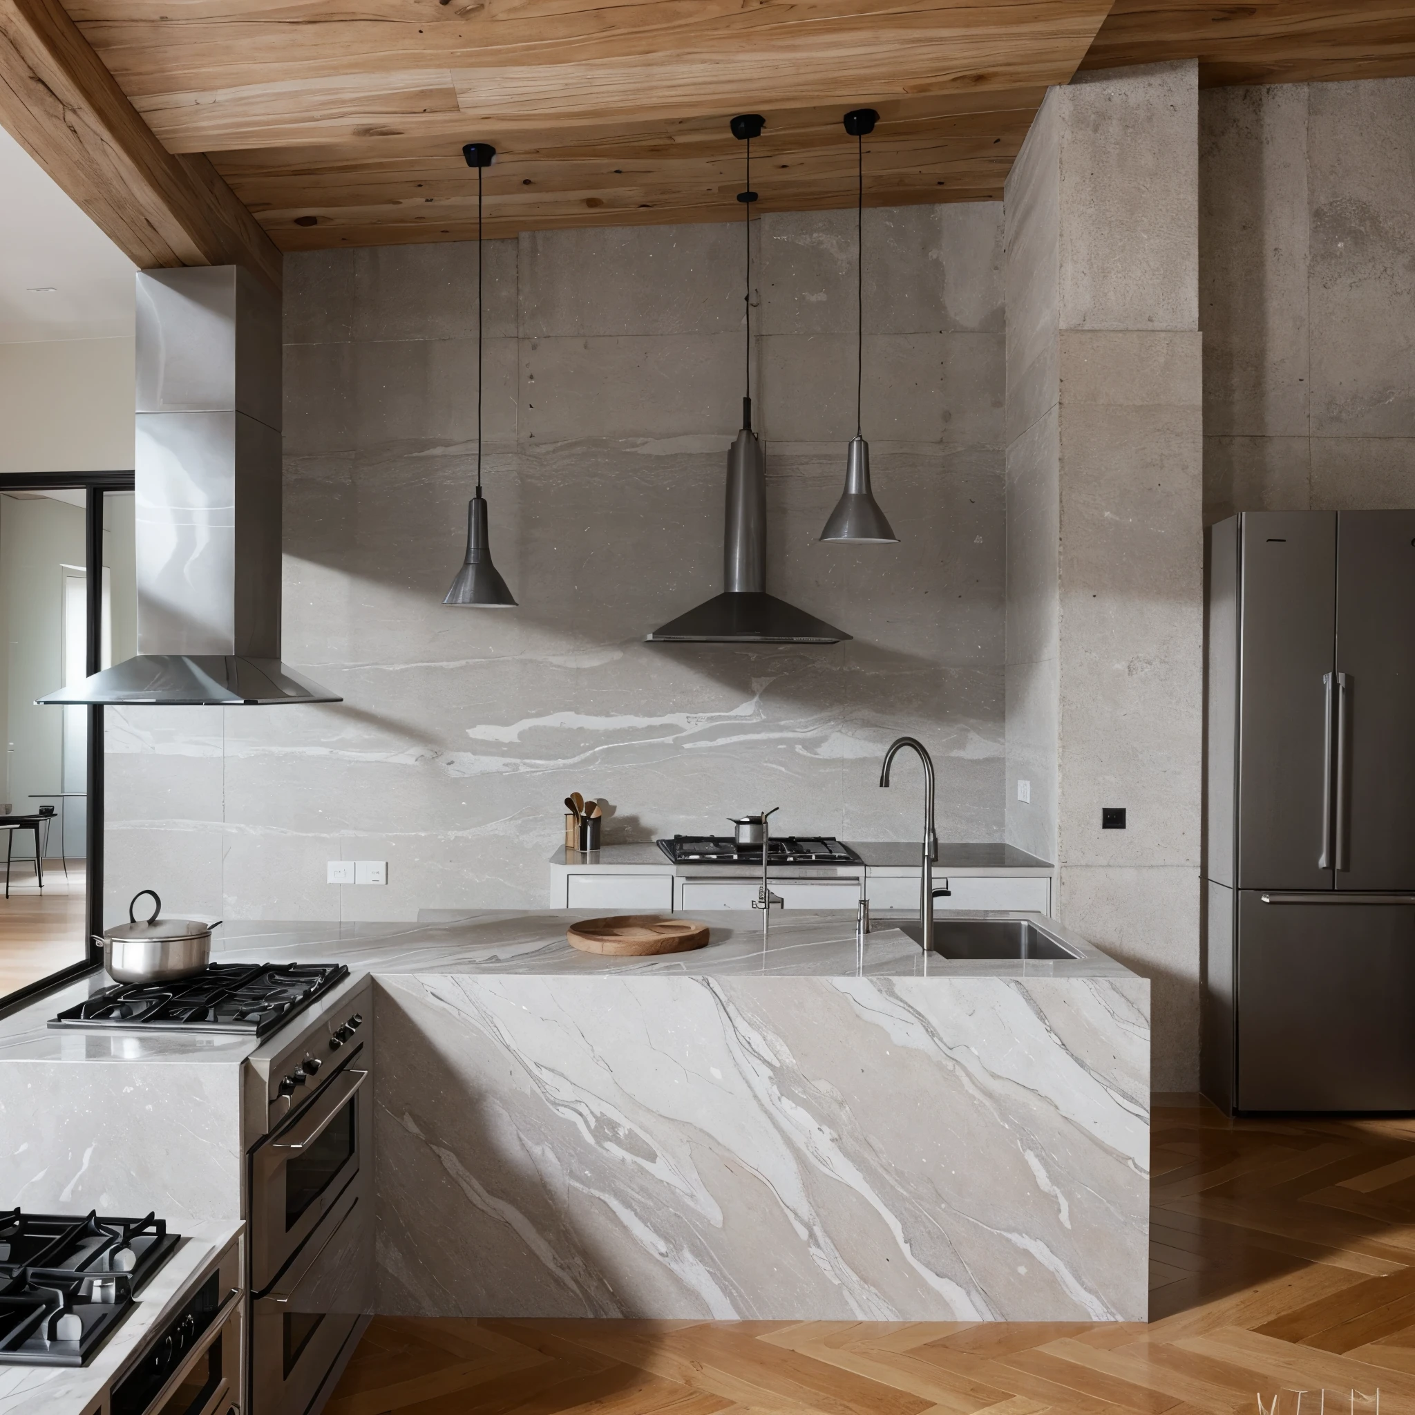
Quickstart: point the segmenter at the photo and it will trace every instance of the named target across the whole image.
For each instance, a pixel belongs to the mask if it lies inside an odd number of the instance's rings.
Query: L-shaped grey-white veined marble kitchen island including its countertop
[[[376,1310],[1145,1317],[1148,981],[1050,923],[1074,959],[889,921],[857,949],[805,910],[616,959],[567,945],[583,917],[222,931],[222,962],[374,979]],[[170,1215],[242,1217],[249,1044],[57,1033],[55,1002],[0,1023],[0,1197],[132,1206],[160,1167]]]

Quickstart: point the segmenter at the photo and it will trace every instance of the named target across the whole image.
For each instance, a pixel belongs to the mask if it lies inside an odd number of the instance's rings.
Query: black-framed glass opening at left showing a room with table
[[[0,1012],[102,961],[103,709],[35,699],[137,652],[132,485],[0,475]]]

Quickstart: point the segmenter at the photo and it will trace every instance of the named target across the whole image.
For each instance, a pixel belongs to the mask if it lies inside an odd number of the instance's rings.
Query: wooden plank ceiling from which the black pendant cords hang
[[[58,0],[0,0],[0,7]],[[866,201],[1002,195],[1051,83],[1199,57],[1204,82],[1415,72],[1415,0],[67,0],[180,161],[283,250],[855,201],[841,117],[879,109]],[[3,68],[3,58],[0,58]],[[6,119],[0,112],[0,120]],[[33,149],[31,149],[33,150]],[[106,229],[106,228],[105,228]]]

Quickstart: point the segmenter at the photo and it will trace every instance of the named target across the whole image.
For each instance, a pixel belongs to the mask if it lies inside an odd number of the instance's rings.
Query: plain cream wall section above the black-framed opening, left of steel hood
[[[0,344],[0,473],[133,466],[133,341]]]

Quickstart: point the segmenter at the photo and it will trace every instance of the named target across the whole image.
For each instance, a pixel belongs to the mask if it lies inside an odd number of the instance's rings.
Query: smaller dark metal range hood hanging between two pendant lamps
[[[845,630],[767,594],[767,477],[743,399],[741,432],[727,453],[722,594],[647,635],[649,644],[839,644]]]

